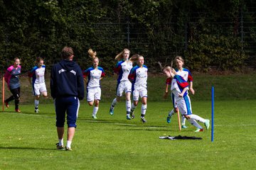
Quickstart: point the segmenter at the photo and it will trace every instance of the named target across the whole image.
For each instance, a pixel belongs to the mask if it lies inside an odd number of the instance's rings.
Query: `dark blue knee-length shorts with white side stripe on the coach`
[[[77,97],[55,98],[56,127],[64,127],[67,113],[68,128],[76,128],[80,101]]]

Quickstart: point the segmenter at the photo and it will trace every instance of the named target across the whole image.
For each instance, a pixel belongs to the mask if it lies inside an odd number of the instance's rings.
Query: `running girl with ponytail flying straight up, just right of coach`
[[[97,111],[99,110],[101,89],[100,89],[100,80],[102,77],[105,77],[105,72],[102,67],[99,67],[99,58],[96,57],[96,52],[93,52],[92,49],[88,50],[89,56],[92,57],[92,67],[89,67],[83,72],[83,76],[86,81],[87,77],[87,102],[89,106],[95,104],[92,111],[92,118],[97,119]]]

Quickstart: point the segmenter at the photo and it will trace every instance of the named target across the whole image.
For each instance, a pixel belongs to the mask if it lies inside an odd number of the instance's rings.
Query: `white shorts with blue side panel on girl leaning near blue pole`
[[[176,104],[178,106],[178,110],[180,111],[181,115],[192,114],[191,100],[188,95],[181,98],[176,97]]]

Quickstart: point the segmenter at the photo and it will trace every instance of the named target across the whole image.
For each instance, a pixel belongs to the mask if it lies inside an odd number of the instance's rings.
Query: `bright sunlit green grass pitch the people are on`
[[[0,169],[254,169],[255,100],[215,101],[214,142],[210,130],[178,131],[177,117],[166,123],[170,102],[149,101],[147,123],[126,120],[124,102],[109,115],[110,102],[100,103],[98,120],[82,101],[73,152],[55,149],[57,133],[53,104],[14,106],[0,113]],[[210,101],[192,101],[193,113],[210,118]],[[203,140],[160,140],[162,135],[186,135]]]

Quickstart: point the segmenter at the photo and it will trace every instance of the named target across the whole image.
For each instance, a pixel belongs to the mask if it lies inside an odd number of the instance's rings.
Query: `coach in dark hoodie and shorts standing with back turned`
[[[85,96],[84,81],[80,66],[73,62],[73,49],[64,47],[63,60],[53,65],[50,74],[50,94],[55,101],[56,127],[59,142],[57,149],[70,151],[75,135],[80,100]],[[63,145],[65,113],[67,113],[68,141]]]

